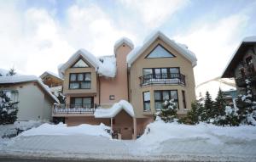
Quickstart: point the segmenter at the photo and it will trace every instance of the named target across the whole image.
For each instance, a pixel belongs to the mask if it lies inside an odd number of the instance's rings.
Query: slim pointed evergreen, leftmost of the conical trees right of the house
[[[204,111],[202,112],[201,120],[210,122],[211,119],[214,119],[214,108],[213,101],[210,93],[207,91],[204,103]]]

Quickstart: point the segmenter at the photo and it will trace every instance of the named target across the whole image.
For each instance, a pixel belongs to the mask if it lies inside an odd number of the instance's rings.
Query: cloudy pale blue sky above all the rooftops
[[[197,84],[221,75],[245,36],[256,35],[253,0],[0,1],[0,64],[20,73],[57,73],[79,48],[113,54],[121,36],[141,45],[153,31],[186,44]]]

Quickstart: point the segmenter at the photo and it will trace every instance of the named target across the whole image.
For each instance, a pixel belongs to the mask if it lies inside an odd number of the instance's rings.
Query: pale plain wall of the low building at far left
[[[0,87],[0,90],[17,90],[19,92],[17,120],[51,120],[53,101],[44,95],[37,84],[30,82]]]

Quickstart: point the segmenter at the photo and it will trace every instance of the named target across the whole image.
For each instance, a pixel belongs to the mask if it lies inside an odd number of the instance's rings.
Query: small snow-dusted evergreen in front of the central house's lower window
[[[165,103],[163,103],[163,108],[160,110],[158,116],[166,123],[172,122],[177,118],[177,105],[173,102],[173,99],[169,101],[166,100]]]

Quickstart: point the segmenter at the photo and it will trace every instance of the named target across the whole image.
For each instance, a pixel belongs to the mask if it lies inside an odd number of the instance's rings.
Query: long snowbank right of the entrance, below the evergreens
[[[170,139],[189,138],[202,138],[213,144],[220,143],[222,138],[256,140],[256,126],[224,127],[205,123],[189,126],[157,120],[147,126],[145,133],[137,141],[153,146]]]

